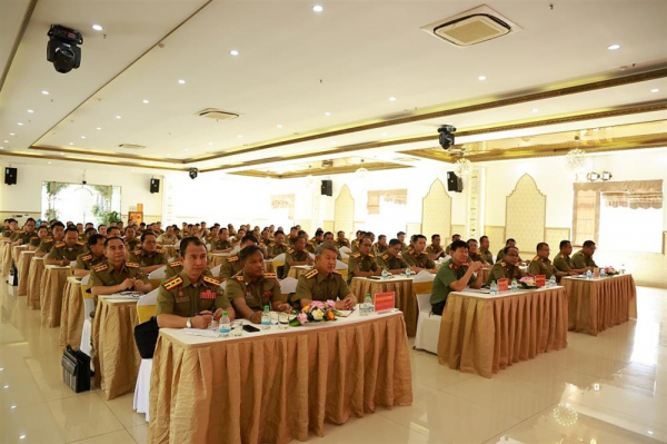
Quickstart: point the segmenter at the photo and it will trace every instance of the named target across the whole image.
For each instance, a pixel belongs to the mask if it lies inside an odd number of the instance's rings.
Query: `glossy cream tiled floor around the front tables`
[[[104,401],[61,379],[58,328],[0,285],[0,443],[145,443],[132,394]],[[327,425],[316,443],[667,442],[667,290],[638,288],[639,322],[598,337],[568,335],[568,348],[491,379],[451,371],[412,351],[415,402]],[[21,436],[24,436],[21,438]],[[203,444],[203,443],[202,443]]]

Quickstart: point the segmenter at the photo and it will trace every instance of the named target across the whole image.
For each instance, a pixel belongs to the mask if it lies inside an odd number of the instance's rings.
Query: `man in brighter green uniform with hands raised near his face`
[[[451,292],[461,292],[467,286],[481,287],[481,263],[468,262],[468,244],[455,240],[449,248],[451,257],[440,266],[434,280],[430,304],[435,315],[442,316],[447,297]],[[477,276],[475,276],[477,273]]]

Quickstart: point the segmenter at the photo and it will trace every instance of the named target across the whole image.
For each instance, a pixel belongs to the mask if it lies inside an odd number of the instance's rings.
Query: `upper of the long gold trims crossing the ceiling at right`
[[[328,138],[328,137],[345,136],[345,135],[349,135],[349,134],[354,134],[354,132],[368,131],[368,130],[372,130],[372,129],[386,128],[386,127],[391,127],[391,126],[396,126],[396,125],[412,124],[412,122],[421,121],[421,120],[430,120],[430,119],[436,119],[436,118],[450,117],[450,116],[461,115],[461,114],[467,114],[467,112],[485,111],[485,110],[489,110],[489,109],[501,108],[501,107],[507,107],[507,106],[512,106],[512,105],[520,105],[520,103],[526,103],[526,102],[536,101],[536,100],[552,99],[552,98],[570,96],[570,95],[575,95],[575,93],[589,92],[589,91],[607,89],[607,88],[616,88],[616,87],[621,87],[621,86],[626,86],[626,85],[660,79],[664,77],[667,77],[667,68],[661,68],[661,69],[647,71],[647,72],[640,72],[640,73],[630,75],[630,76],[615,77],[615,78],[605,79],[605,80],[581,82],[578,85],[563,87],[563,88],[540,90],[537,92],[528,92],[522,96],[514,96],[514,97],[508,97],[508,98],[504,98],[504,99],[497,99],[497,100],[481,99],[481,100],[470,103],[470,105],[466,105],[466,102],[462,102],[461,105],[452,105],[449,108],[439,109],[439,110],[430,111],[430,112],[417,114],[414,116],[400,117],[400,118],[391,119],[391,120],[381,120],[381,121],[376,121],[376,122],[371,122],[371,124],[361,124],[361,125],[350,126],[350,127],[346,127],[346,128],[341,128],[341,129],[326,130],[326,131],[316,132],[316,134],[311,134],[311,135],[307,135],[307,136],[295,137],[295,138],[290,138],[290,139],[283,139],[283,140],[272,141],[272,142],[267,142],[267,144],[260,144],[260,145],[256,145],[250,148],[239,148],[236,150],[233,148],[231,148],[231,150],[219,151],[219,152],[208,155],[208,156],[191,157],[191,158],[185,159],[185,162],[189,164],[189,162],[193,162],[193,161],[221,159],[221,158],[229,157],[229,156],[249,154],[249,152],[260,151],[260,150],[265,150],[265,149],[269,149],[269,148],[278,148],[278,147],[283,147],[283,146],[292,145],[292,144],[302,144],[306,141],[312,141],[312,140],[323,139],[323,138]]]

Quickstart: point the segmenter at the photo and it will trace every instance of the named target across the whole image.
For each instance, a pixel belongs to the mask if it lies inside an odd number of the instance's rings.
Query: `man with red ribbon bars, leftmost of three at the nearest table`
[[[186,237],[180,244],[183,269],[160,285],[156,316],[160,328],[208,328],[222,312],[229,319],[236,313],[220,282],[206,275],[206,245],[197,237]]]

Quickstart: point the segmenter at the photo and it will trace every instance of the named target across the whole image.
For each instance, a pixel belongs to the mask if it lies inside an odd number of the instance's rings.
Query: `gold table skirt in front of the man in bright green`
[[[514,363],[567,347],[565,288],[479,298],[450,293],[438,358],[464,373],[491,377]]]

